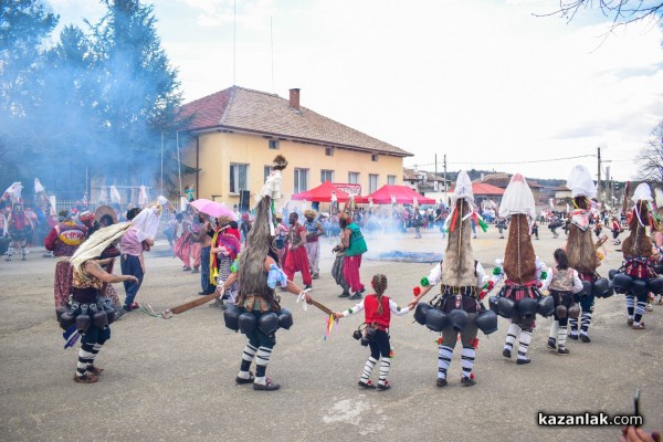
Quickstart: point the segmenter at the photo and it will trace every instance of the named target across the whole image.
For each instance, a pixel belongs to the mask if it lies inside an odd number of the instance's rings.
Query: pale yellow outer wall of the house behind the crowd
[[[402,185],[403,161],[401,157],[378,155],[371,160],[370,152],[359,152],[334,148],[334,155],[327,156],[324,146],[278,140],[278,149],[270,149],[267,138],[260,135],[239,133],[210,133],[198,137],[198,164],[196,161],[196,139],[182,151],[183,160],[200,168],[198,175],[197,198],[239,203],[240,194],[230,192],[230,165],[249,165],[249,189],[257,193],[264,183],[264,167],[270,166],[276,155],[288,160],[283,171],[284,200],[290,199],[295,185],[295,168],[308,169],[307,189],[320,185],[320,171],[334,170],[334,182],[349,182],[348,172],[359,173],[361,194],[369,193],[369,173],[378,175],[378,189],[387,183],[388,176],[396,177],[396,183]],[[188,178],[194,183],[196,176]]]

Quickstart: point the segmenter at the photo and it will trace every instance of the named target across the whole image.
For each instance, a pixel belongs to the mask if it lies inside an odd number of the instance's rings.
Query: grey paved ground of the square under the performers
[[[540,229],[535,249],[546,262],[564,238]],[[564,236],[564,234],[562,234]],[[492,230],[474,241],[475,256],[487,271],[501,257],[505,240]],[[436,252],[444,242],[436,231],[375,238],[371,251]],[[333,309],[350,305],[337,298],[329,270],[332,245],[324,242],[320,280],[314,296]],[[609,251],[615,248],[610,245]],[[76,351],[63,350],[53,311],[54,260],[33,249],[28,262],[0,261],[0,440],[34,441],[209,441],[274,440],[618,440],[619,428],[540,428],[537,411],[630,413],[635,389],[648,429],[663,429],[661,330],[663,306],[645,316],[648,329],[625,326],[622,296],[599,301],[591,344],[570,341],[571,354],[546,349],[549,319],[534,334],[528,366],[502,356],[507,323],[480,337],[477,385],[461,388],[460,355],[454,354],[450,386],[438,389],[436,335],[412,324],[412,316],[392,319],[396,358],[391,391],[364,391],[356,386],[368,351],[351,338],[360,317],[340,322],[323,339],[325,317],[303,312],[285,297],[295,326],[277,334],[269,375],[277,392],[236,386],[245,339],[227,329],[221,312],[203,305],[164,320],[138,312],[112,326],[113,338],[98,358],[106,371],[95,385],[73,382]],[[612,252],[600,269],[617,267]],[[411,287],[428,274],[425,263],[365,261],[364,282],[375,273],[389,277],[388,294],[407,304]],[[148,254],[146,281],[138,302],[162,311],[196,297],[199,275],[180,271],[158,243]],[[295,276],[301,282],[299,276]],[[118,292],[123,292],[118,286]],[[286,295],[288,296],[288,295]]]

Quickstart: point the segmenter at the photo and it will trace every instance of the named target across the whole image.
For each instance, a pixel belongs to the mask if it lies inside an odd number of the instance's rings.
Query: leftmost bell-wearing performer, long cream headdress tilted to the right
[[[99,298],[104,283],[138,282],[133,275],[119,276],[107,273],[102,269],[105,264],[104,260],[99,260],[104,250],[116,242],[129,228],[129,223],[123,223],[97,231],[76,250],[71,259],[73,287],[67,314],[70,317],[75,317],[76,328],[82,335],[74,376],[76,382],[96,382],[103,371],[94,365],[94,361],[106,340],[110,338],[109,323],[115,312],[107,308]],[[60,317],[61,325],[63,316],[65,315]]]

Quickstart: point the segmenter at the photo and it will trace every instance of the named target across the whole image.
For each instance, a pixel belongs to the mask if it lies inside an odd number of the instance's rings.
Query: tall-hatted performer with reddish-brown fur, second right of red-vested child
[[[499,217],[511,217],[508,239],[504,251],[504,267],[495,267],[491,285],[496,286],[505,280],[499,292],[497,309],[512,320],[506,334],[502,355],[511,358],[514,344],[518,339],[517,365],[529,364],[527,357],[538,302],[541,297],[539,286],[547,278],[545,264],[536,257],[532,245],[529,225],[535,222],[534,196],[525,177],[516,173],[512,177],[502,203]]]

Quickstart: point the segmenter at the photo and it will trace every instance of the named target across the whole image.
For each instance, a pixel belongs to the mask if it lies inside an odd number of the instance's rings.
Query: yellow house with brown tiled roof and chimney
[[[299,90],[290,99],[232,86],[182,106],[193,140],[182,151],[200,169],[196,198],[252,206],[278,154],[284,200],[323,181],[360,186],[369,194],[383,185],[401,185],[403,158],[412,156],[330,118],[299,106]],[[358,187],[358,186],[356,186]]]

